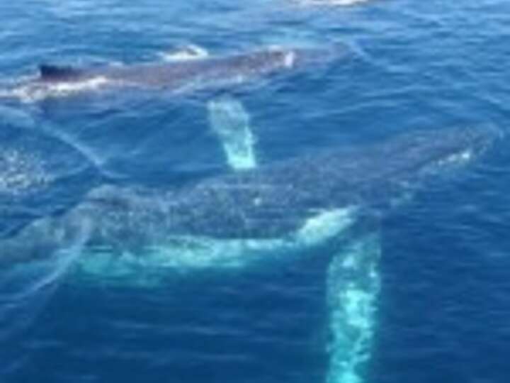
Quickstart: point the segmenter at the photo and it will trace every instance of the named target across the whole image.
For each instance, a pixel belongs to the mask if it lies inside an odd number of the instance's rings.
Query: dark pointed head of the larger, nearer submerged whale
[[[409,201],[424,185],[458,177],[503,137],[492,127],[407,133],[364,153],[354,182],[370,206],[387,209]],[[389,205],[388,205],[389,204]]]

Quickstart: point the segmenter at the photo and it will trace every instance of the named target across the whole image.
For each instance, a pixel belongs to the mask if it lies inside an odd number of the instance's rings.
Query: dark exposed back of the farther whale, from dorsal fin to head
[[[181,88],[238,83],[268,74],[313,67],[346,55],[344,46],[333,48],[269,48],[238,55],[200,57],[176,62],[147,62],[125,66],[75,68],[42,64],[38,81],[76,82],[101,78],[117,85]]]

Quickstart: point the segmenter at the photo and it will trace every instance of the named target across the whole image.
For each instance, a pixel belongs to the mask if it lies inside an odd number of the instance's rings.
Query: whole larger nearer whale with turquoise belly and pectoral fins
[[[212,113],[225,136],[251,131],[230,102]],[[408,131],[283,162],[254,157],[252,165],[176,189],[104,184],[67,211],[2,238],[0,270],[28,274],[21,280],[29,286],[11,296],[23,301],[63,275],[152,289],[174,272],[242,272],[328,251],[326,382],[365,382],[381,285],[380,218],[475,163],[499,138],[499,129],[487,127]],[[232,153],[234,164],[240,152],[225,150]]]

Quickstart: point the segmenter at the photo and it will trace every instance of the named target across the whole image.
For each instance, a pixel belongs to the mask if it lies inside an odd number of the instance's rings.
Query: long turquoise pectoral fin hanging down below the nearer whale
[[[380,292],[378,233],[351,240],[327,271],[329,371],[327,383],[361,383],[370,360]]]

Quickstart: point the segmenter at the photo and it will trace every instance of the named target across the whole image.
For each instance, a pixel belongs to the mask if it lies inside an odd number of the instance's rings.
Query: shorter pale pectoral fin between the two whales
[[[257,166],[255,138],[249,113],[232,97],[221,97],[208,103],[212,131],[222,144],[227,162],[233,170],[249,170]]]

